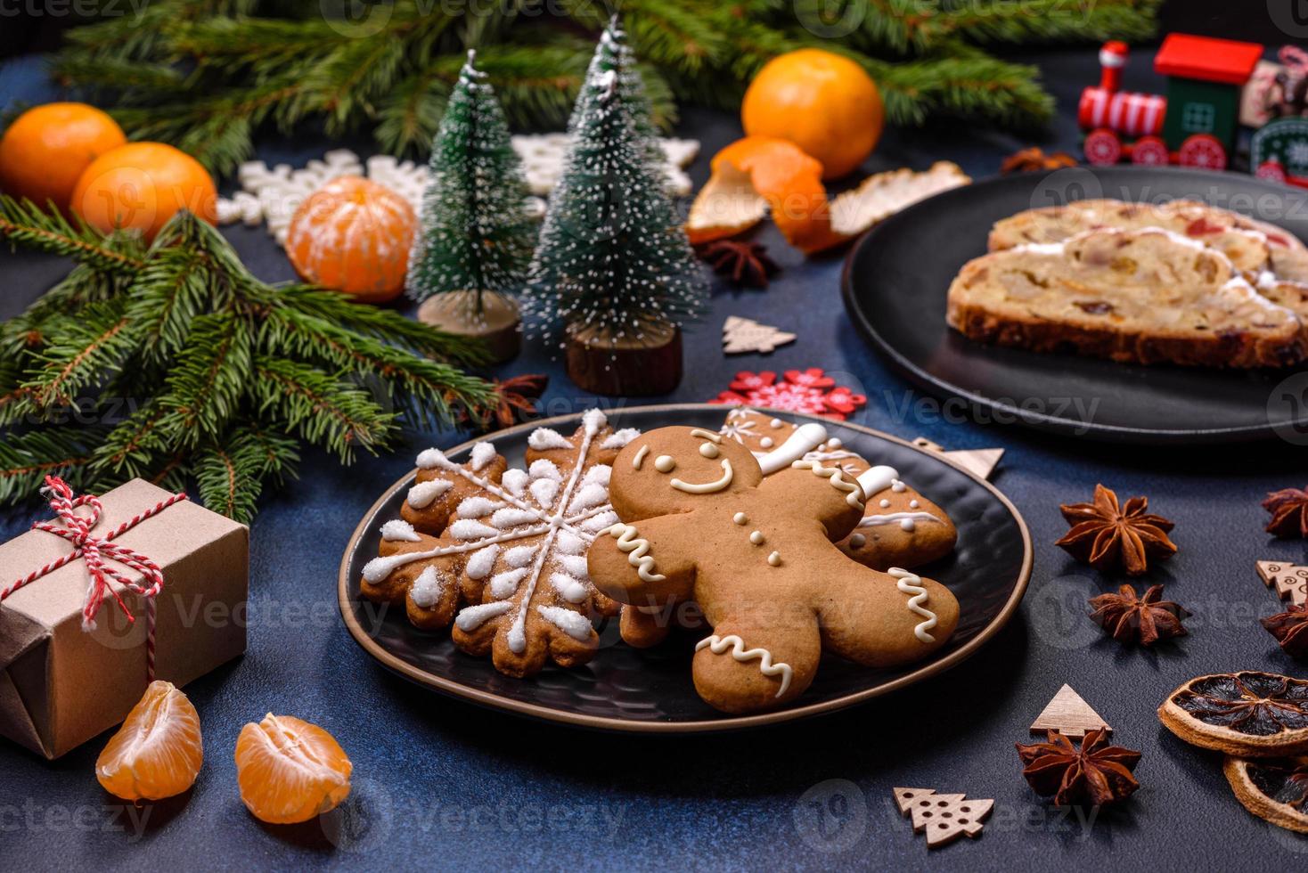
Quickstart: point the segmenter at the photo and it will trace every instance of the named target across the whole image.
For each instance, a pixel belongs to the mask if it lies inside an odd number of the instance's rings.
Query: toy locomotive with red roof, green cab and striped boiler
[[[1168,77],[1167,95],[1142,94],[1121,90],[1126,43],[1105,43],[1099,85],[1080,94],[1086,161],[1224,170],[1235,150],[1240,89],[1261,58],[1257,43],[1171,34],[1154,59],[1154,69]]]

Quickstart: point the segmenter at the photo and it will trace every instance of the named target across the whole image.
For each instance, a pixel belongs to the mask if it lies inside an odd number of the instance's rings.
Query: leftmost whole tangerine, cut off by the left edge
[[[0,137],[0,191],[68,209],[92,161],[127,142],[123,128],[86,103],[35,106]]]

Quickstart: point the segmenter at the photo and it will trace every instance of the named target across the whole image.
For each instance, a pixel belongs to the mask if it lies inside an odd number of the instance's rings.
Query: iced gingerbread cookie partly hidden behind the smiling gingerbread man
[[[719,433],[761,459],[797,430],[794,423],[770,413],[736,406],[727,413]],[[840,550],[854,561],[874,570],[912,568],[943,558],[957,544],[957,528],[944,510],[905,485],[895,468],[874,467],[835,436],[812,446],[803,457],[838,467],[848,478],[857,478],[870,469],[882,470],[879,477],[865,482],[878,490],[867,495],[863,518],[838,544]]]

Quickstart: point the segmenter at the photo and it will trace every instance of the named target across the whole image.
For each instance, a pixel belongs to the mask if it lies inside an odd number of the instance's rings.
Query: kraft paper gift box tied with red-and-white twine
[[[90,533],[103,537],[169,497],[132,480],[99,497],[103,515]],[[77,514],[88,516],[90,508]],[[41,518],[67,527],[48,508]],[[182,686],[245,652],[249,528],[181,501],[112,542],[164,571],[154,599],[156,678]],[[0,591],[73,548],[44,531],[0,544]],[[105,565],[143,580],[122,563],[106,558]],[[86,561],[78,558],[0,601],[0,734],[51,759],[119,724],[145,693],[145,597],[111,582],[135,622],[106,595],[95,630],[84,631],[89,584]]]

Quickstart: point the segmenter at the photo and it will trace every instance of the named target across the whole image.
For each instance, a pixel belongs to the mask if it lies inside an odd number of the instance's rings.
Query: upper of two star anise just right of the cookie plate
[[[1095,486],[1093,503],[1058,507],[1071,529],[1054,545],[1062,546],[1078,561],[1087,561],[1096,570],[1121,567],[1129,576],[1148,570],[1148,559],[1171,558],[1176,544],[1167,533],[1173,524],[1162,515],[1150,515],[1148,498],[1133,497],[1122,507],[1117,494],[1103,485]]]

